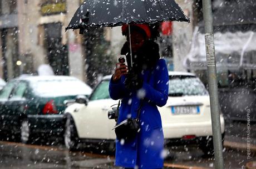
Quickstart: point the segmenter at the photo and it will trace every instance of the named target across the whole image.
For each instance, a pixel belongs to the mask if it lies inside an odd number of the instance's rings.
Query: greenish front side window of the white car
[[[91,94],[90,100],[110,99],[109,80],[101,81]]]

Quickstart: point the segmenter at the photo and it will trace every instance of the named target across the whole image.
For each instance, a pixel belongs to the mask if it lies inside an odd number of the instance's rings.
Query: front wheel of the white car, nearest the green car
[[[72,117],[68,117],[65,124],[64,142],[68,150],[77,150],[78,136]]]

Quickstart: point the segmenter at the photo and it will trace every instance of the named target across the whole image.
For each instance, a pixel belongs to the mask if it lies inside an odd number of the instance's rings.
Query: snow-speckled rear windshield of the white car
[[[203,83],[194,76],[170,76],[169,96],[208,95]]]

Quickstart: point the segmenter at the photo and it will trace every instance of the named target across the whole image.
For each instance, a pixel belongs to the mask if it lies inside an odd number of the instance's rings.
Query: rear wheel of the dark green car
[[[21,142],[24,144],[27,144],[29,141],[31,141],[30,124],[27,119],[21,121],[20,138]]]

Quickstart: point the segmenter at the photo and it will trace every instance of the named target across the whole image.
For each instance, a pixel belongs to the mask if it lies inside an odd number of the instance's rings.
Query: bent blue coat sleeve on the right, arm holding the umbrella
[[[168,100],[169,75],[164,59],[160,59],[155,69],[154,88],[143,83],[142,88],[145,90],[145,98],[157,106],[164,106]]]

